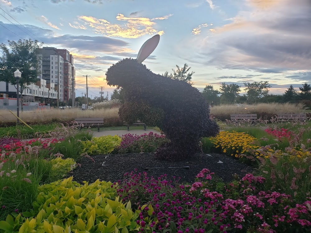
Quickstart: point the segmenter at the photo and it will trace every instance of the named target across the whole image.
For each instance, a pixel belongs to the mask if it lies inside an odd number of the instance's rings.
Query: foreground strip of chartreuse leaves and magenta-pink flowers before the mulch
[[[227,184],[213,176],[203,169],[191,185],[146,172],[127,173],[119,183],[97,180],[91,185],[71,177],[41,186],[33,211],[17,211],[15,220],[7,217],[3,232],[309,231],[310,197],[295,204],[290,195],[262,191],[265,179],[252,174]]]

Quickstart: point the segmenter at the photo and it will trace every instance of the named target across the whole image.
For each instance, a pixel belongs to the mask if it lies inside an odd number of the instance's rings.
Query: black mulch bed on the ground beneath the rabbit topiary
[[[241,178],[254,171],[254,167],[239,162],[232,157],[210,153],[196,154],[190,161],[168,162],[156,160],[153,153],[135,153],[135,154],[116,154],[116,155],[97,155],[92,156],[95,162],[90,158],[82,158],[80,160],[81,167],[74,169],[73,179],[81,183],[83,180],[94,182],[97,179],[105,181],[122,180],[124,173],[131,172],[137,168],[137,172],[146,171],[148,176],[158,177],[167,174],[167,180],[173,180],[181,177],[180,182],[193,182],[196,175],[203,169],[208,168],[211,172],[215,172],[216,176],[222,178],[225,182],[232,180],[234,173]],[[217,163],[217,162],[223,163]],[[102,166],[104,163],[104,166]],[[169,167],[185,167],[185,168],[169,168]],[[158,167],[145,170],[146,167]]]

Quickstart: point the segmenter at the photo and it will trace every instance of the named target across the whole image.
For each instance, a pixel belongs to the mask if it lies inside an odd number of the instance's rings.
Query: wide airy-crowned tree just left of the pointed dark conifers
[[[268,81],[244,83],[244,86],[246,87],[247,98],[251,101],[267,96],[268,88],[272,87]]]

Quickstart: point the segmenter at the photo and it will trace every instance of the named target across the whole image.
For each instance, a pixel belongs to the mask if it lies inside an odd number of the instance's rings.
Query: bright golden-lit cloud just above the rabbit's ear
[[[156,20],[166,20],[170,15],[157,17],[157,18],[145,18],[145,17],[126,17],[123,14],[116,16],[117,21],[123,21],[123,24],[113,24],[105,19],[97,19],[92,16],[79,16],[79,20],[83,21],[92,27],[96,33],[103,34],[109,37],[121,37],[121,38],[139,38],[143,35],[152,34],[164,34],[164,31],[157,31],[154,26]]]

